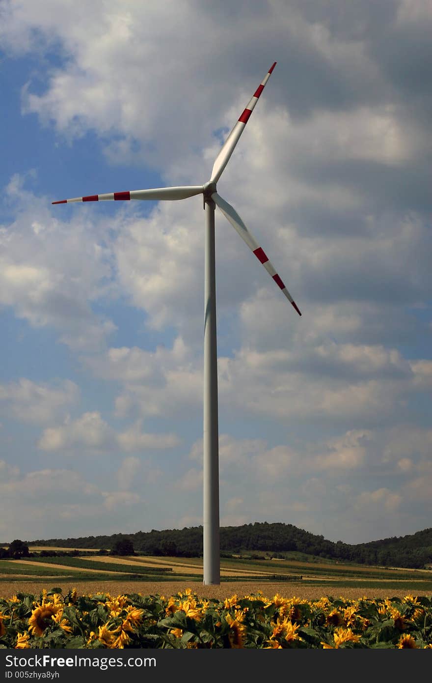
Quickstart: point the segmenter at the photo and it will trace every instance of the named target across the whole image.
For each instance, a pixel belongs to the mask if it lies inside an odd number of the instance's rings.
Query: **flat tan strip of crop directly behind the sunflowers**
[[[276,593],[284,596],[285,598],[303,598],[306,600],[317,600],[322,596],[331,595],[334,598],[346,598],[346,599],[356,599],[356,598],[390,598],[393,596],[398,596],[403,598],[405,595],[412,594],[412,589],[403,588],[401,589],[384,589],[379,588],[345,588],[340,583],[334,583],[331,586],[322,585],[302,585],[301,583],[260,583],[259,581],[227,581],[219,586],[203,586],[199,582],[187,582],[187,581],[160,581],[160,582],[147,582],[147,581],[64,581],[57,577],[55,583],[47,584],[46,581],[11,581],[10,583],[1,583],[0,585],[0,597],[1,598],[11,598],[16,593],[31,593],[34,595],[40,594],[42,589],[49,589],[55,585],[56,587],[61,587],[63,594],[66,594],[71,588],[76,588],[78,594],[91,594],[96,593],[110,593],[111,595],[117,596],[121,594],[128,593],[141,593],[142,595],[164,595],[165,597],[175,595],[179,591],[184,591],[186,588],[192,589],[192,592],[196,593],[198,596],[203,598],[218,598],[218,600],[223,600],[229,598],[233,594],[237,596],[246,596],[251,593],[257,593],[262,591],[263,595],[267,598],[272,598]],[[425,593],[417,592],[416,595],[424,595]],[[427,596],[431,597],[430,593],[426,593]]]

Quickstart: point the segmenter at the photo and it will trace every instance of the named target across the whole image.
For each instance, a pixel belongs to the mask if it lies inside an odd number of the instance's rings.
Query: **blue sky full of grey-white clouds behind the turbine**
[[[211,30],[209,31],[209,27]],[[220,522],[431,522],[427,0],[3,1],[0,540],[202,523],[201,197],[216,212]]]

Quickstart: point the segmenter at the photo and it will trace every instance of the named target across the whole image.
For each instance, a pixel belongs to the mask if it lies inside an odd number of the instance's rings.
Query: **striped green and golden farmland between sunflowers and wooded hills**
[[[48,550],[51,548],[44,548]],[[64,548],[66,550],[66,548]],[[35,550],[35,548],[32,548]],[[57,548],[63,550],[63,548]],[[68,548],[70,550],[70,548]],[[222,558],[220,586],[203,586],[203,559],[181,557],[32,557],[0,561],[0,596],[17,592],[38,594],[76,587],[80,594],[173,595],[188,587],[203,598],[225,599],[234,593],[261,591],[307,600],[321,596],[359,598],[432,595],[432,572],[355,566],[326,561]]]

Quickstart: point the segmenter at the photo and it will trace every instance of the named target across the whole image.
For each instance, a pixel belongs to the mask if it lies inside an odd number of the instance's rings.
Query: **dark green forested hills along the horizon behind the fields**
[[[116,541],[128,538],[134,550],[148,555],[198,556],[203,554],[203,527],[165,529],[164,531],[117,533],[111,536],[86,536],[84,538],[50,538],[35,540],[28,544],[61,546],[63,548],[104,548],[109,550]],[[31,548],[30,548],[31,549]],[[349,560],[381,566],[423,568],[432,563],[432,529],[424,529],[399,538],[385,538],[351,545],[326,540],[291,524],[255,522],[242,527],[220,529],[220,550],[225,553],[244,553],[268,550],[283,553],[297,550],[308,555],[327,559]]]

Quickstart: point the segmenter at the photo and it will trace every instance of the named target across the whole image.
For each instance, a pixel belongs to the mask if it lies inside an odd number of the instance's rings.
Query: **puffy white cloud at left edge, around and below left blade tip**
[[[97,236],[85,213],[61,223],[24,182],[14,176],[6,189],[16,217],[0,229],[0,305],[31,326],[53,326],[74,350],[100,348],[115,330],[91,309],[116,289],[104,232]]]

